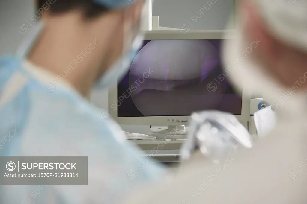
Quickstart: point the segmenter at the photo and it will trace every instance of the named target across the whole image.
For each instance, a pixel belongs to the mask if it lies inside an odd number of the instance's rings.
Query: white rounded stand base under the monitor
[[[152,127],[149,136],[163,139],[179,139],[188,137],[188,127],[184,125],[169,125],[167,127]]]

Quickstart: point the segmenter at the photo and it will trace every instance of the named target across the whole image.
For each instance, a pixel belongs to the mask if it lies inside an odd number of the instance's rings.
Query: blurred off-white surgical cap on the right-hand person
[[[307,51],[306,0],[255,0],[255,3],[274,36]]]

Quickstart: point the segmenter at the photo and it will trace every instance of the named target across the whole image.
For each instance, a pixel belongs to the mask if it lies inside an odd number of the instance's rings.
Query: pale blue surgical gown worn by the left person
[[[88,185],[3,185],[0,203],[118,203],[162,178],[164,170],[141,157],[119,125],[101,116],[106,111],[31,69],[14,57],[0,60],[1,156],[86,156]]]

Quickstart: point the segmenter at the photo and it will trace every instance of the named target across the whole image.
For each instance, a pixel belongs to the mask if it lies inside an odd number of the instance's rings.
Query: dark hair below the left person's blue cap
[[[95,18],[108,11],[92,0],[38,0],[38,9],[48,8],[52,14],[60,14],[80,9],[85,18]]]

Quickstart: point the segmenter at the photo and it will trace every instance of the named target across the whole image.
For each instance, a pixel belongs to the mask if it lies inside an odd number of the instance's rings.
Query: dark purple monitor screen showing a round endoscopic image
[[[118,117],[241,115],[242,94],[222,69],[222,40],[145,40],[117,87]],[[229,72],[229,73],[228,73]]]

